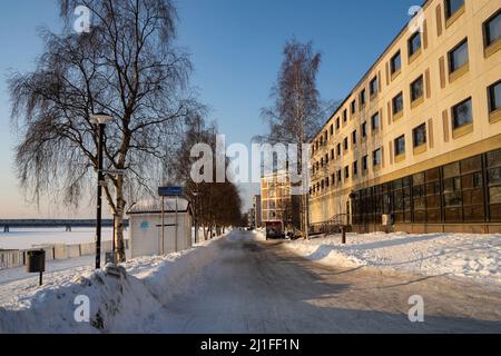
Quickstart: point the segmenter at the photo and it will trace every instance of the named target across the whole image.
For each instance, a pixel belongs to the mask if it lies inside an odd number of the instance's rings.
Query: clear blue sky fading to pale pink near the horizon
[[[179,46],[191,55],[193,85],[212,108],[228,142],[248,145],[264,134],[259,117],[269,105],[282,61],[282,49],[295,36],[313,40],[323,56],[318,89],[325,99],[344,99],[362,75],[409,21],[407,10],[421,0],[180,0]],[[0,12],[0,218],[70,217],[43,206],[24,204],[12,166],[13,135],[9,125],[6,76],[30,70],[42,43],[40,26],[58,31],[55,0],[2,0]],[[327,118],[326,118],[327,119]],[[245,201],[256,187],[244,187]],[[63,211],[63,210],[62,210]],[[78,211],[90,216],[92,208]]]

